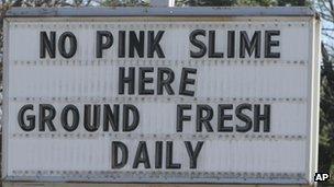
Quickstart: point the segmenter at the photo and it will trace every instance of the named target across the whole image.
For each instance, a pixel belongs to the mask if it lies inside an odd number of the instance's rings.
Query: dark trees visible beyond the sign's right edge
[[[315,8],[322,17],[322,71],[320,101],[319,171],[334,174],[334,4],[318,0]],[[331,179],[333,184],[333,177]]]

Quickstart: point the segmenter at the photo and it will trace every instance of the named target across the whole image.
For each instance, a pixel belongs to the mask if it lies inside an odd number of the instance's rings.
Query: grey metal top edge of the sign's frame
[[[12,8],[5,16],[316,16],[316,13],[305,7]]]

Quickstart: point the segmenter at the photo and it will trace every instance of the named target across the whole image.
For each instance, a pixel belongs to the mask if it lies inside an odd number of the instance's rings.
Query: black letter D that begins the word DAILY
[[[122,152],[122,160],[119,162],[119,148]],[[124,143],[120,141],[111,142],[111,168],[122,168],[127,163],[127,148]]]

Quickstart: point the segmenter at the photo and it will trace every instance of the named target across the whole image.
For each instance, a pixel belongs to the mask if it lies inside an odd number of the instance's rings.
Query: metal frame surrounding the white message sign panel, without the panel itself
[[[202,16],[202,17],[199,17]],[[220,179],[208,178],[205,180],[193,179],[191,182],[183,179],[143,179],[138,182],[137,178],[122,178],[112,183],[196,183],[196,184],[312,184],[313,175],[318,168],[318,135],[319,135],[319,102],[320,102],[320,20],[318,14],[309,8],[80,8],[73,11],[71,9],[22,9],[14,8],[8,11],[7,17],[4,19],[4,55],[3,55],[3,131],[2,131],[2,174],[7,174],[7,156],[8,156],[8,121],[9,121],[9,95],[8,87],[9,85],[9,23],[11,21],[30,21],[30,20],[96,20],[96,19],[114,19],[118,21],[123,20],[144,20],[144,21],[203,21],[203,20],[215,20],[215,21],[226,21],[233,20],[237,21],[245,20],[249,16],[249,21],[261,20],[260,16],[268,16],[270,19],[275,17],[285,17],[289,19],[299,19],[308,17],[312,26],[310,27],[310,38],[312,40],[312,48],[310,48],[310,57],[312,62],[308,66],[309,74],[311,74],[311,80],[309,82],[309,94],[308,100],[310,104],[308,106],[308,124],[309,126],[309,136],[308,144],[310,145],[308,150],[308,155],[310,160],[307,159],[307,167],[309,173],[305,176],[305,179],[280,179],[280,180],[270,180],[266,178],[237,178],[232,177]],[[13,177],[13,176],[2,176],[3,180],[15,182],[15,180],[31,180],[31,182],[66,182],[67,178],[63,177]],[[71,182],[91,182],[91,179],[82,179],[80,177],[73,177]],[[110,182],[104,179],[93,179],[94,182]]]

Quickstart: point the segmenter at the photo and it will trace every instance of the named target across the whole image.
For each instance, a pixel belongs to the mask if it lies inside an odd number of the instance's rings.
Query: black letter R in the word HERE
[[[164,74],[167,74],[167,78],[164,79]],[[174,91],[170,86],[175,78],[175,74],[170,68],[158,68],[158,80],[157,80],[157,94],[164,94],[164,86],[169,95],[174,95]]]

